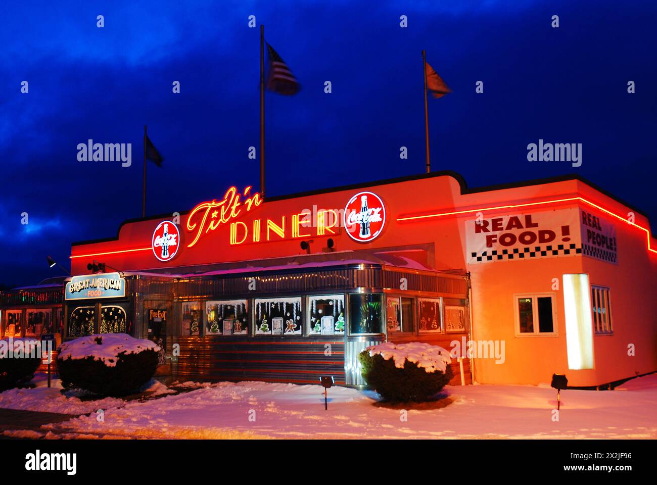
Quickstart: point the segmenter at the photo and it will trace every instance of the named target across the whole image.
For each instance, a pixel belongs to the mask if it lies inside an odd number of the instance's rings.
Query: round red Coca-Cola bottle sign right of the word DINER
[[[349,199],[342,216],[344,228],[354,241],[367,243],[383,230],[386,207],[381,198],[372,192],[359,192]]]

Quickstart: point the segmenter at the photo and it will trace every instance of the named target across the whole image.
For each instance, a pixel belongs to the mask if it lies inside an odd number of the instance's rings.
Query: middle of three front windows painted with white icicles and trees
[[[256,335],[301,335],[301,297],[256,298]]]

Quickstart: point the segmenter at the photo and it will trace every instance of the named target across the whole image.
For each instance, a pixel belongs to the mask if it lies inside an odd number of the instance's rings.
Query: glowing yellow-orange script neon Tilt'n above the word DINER
[[[240,200],[242,194],[237,192],[236,187],[231,187],[226,191],[223,199],[218,202],[216,199],[212,199],[210,202],[202,202],[194,207],[187,217],[187,231],[192,233],[195,231],[195,236],[193,241],[187,244],[187,247],[191,248],[196,245],[202,234],[215,231],[217,227],[229,223],[242,212],[250,212],[252,208],[260,206],[262,204],[260,194],[250,195],[251,188],[249,185],[244,189],[243,195],[246,198],[243,204]],[[194,222],[197,214],[200,216],[200,221]],[[208,216],[210,217],[208,218]]]

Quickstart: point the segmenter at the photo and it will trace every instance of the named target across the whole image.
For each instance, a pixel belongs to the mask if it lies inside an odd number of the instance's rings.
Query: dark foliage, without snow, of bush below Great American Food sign
[[[111,337],[109,335],[92,335],[91,338],[101,345],[103,339],[110,340],[122,334],[114,334]],[[125,337],[138,340],[127,335]],[[87,336],[77,340],[89,338]],[[101,342],[97,342],[97,340],[101,340]],[[149,340],[139,340],[139,342],[152,343]],[[66,342],[66,344],[69,343]],[[93,348],[87,346],[87,352],[89,351],[93,354]],[[87,357],[84,358],[72,358],[70,354],[66,353],[63,356],[62,354],[57,356],[57,371],[62,387],[64,389],[81,388],[101,396],[127,396],[137,392],[146,382],[150,381],[158,365],[158,352],[152,348],[142,348],[139,352],[130,354],[123,350],[118,352],[115,357],[105,357],[111,363],[116,361],[116,365],[107,365],[102,359],[99,359],[98,356],[103,354],[104,350],[99,350],[97,355],[87,354]]]

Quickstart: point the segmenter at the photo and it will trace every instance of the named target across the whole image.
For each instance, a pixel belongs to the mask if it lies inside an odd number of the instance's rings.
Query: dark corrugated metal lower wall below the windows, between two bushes
[[[344,384],[344,342],[334,338],[305,340],[228,340],[216,337],[176,337],[180,356],[174,363],[179,381],[319,382],[332,375]],[[326,355],[326,345],[330,354]]]

